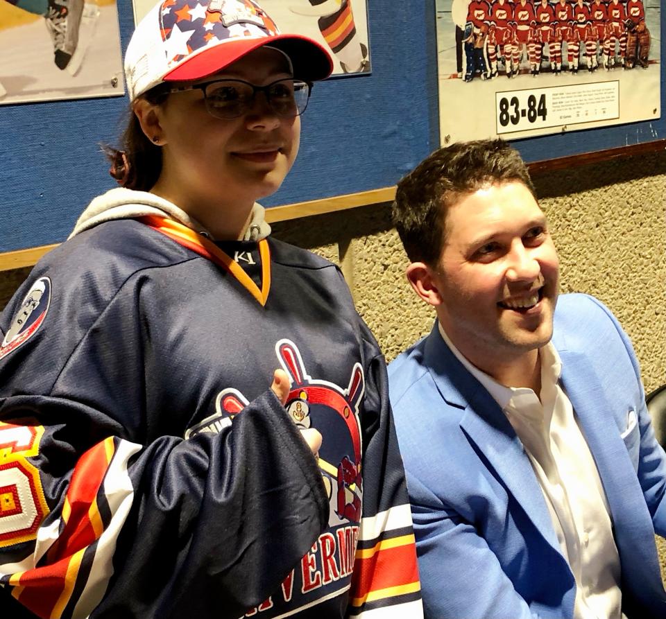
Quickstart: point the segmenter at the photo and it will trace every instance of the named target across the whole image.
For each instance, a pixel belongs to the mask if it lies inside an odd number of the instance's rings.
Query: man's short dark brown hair
[[[392,216],[412,262],[435,265],[445,243],[446,211],[462,195],[517,181],[536,200],[527,165],[504,140],[457,142],[424,159],[398,183]]]

